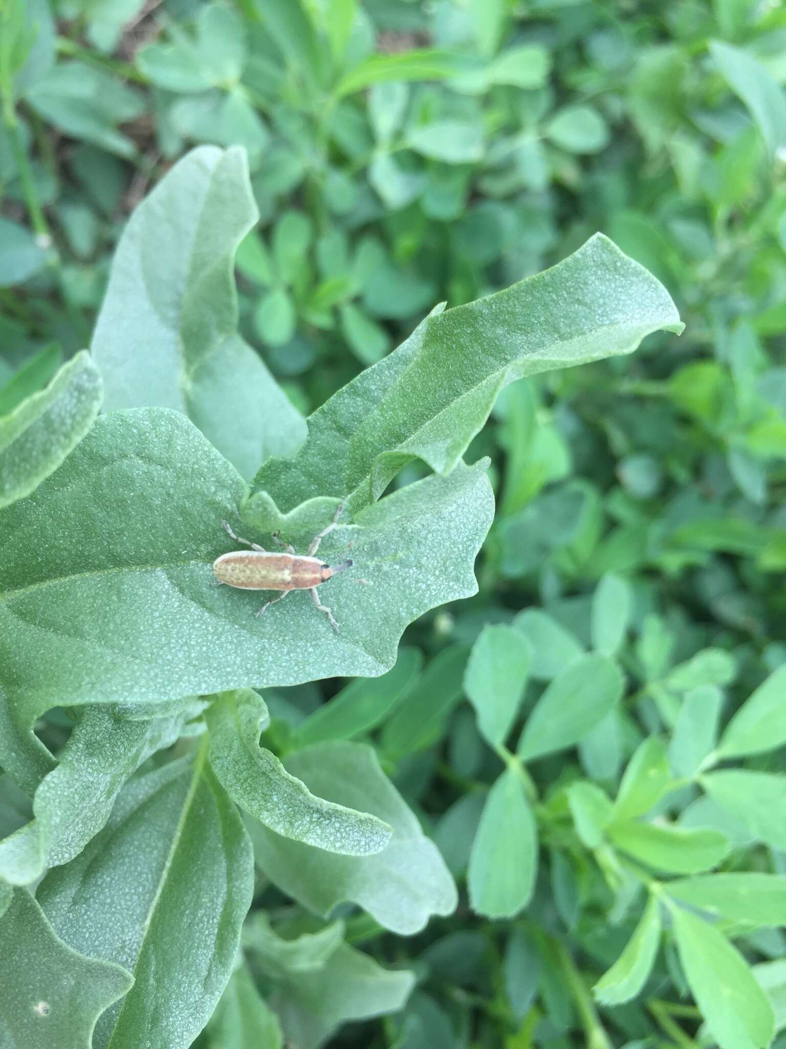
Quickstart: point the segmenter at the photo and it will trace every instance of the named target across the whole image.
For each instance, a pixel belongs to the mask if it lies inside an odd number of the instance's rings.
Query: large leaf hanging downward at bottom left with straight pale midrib
[[[99,1021],[93,1049],[185,1049],[232,973],[252,901],[252,851],[206,749],[205,740],[194,761],[130,784],[101,834],[39,889],[66,943],[134,975],[132,990]]]

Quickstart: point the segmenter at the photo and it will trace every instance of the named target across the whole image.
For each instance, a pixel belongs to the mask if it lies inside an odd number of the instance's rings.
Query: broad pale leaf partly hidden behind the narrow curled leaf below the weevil
[[[444,861],[370,747],[321,743],[289,754],[284,765],[319,797],[390,823],[393,836],[376,856],[336,856],[252,823],[257,862],[274,884],[325,917],[351,901],[402,936],[418,933],[431,915],[453,913],[456,886]]]

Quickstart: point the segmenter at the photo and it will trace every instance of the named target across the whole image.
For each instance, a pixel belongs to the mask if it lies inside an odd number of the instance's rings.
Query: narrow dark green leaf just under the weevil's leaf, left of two
[[[326,740],[353,740],[370,732],[408,693],[422,662],[419,649],[399,648],[392,670],[380,678],[356,678],[301,722],[289,737],[289,749]]]

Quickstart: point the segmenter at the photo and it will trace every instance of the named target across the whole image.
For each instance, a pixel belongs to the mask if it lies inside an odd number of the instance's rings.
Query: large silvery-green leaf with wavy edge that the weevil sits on
[[[53,702],[154,703],[389,669],[412,620],[477,590],[493,516],[484,469],[410,485],[323,541],[330,561],[353,540],[370,583],[348,572],[321,587],[336,635],[307,593],[255,618],[265,595],[215,585],[213,560],[237,549],[221,520],[240,528],[246,486],[183,415],[102,416],[32,496],[0,513],[0,764],[13,749],[34,776],[49,770],[28,729]],[[304,550],[335,505],[307,505],[284,537]],[[271,545],[269,531],[254,538]]]

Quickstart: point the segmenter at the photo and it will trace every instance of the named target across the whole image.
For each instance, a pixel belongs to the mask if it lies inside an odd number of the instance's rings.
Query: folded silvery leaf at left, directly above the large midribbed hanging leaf
[[[28,884],[46,866],[67,863],[104,827],[126,779],[155,751],[171,747],[201,705],[149,720],[124,718],[116,707],[82,711],[58,764],[32,793],[35,819],[0,841],[0,877]]]

